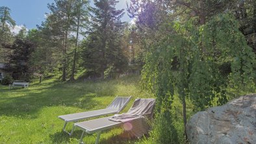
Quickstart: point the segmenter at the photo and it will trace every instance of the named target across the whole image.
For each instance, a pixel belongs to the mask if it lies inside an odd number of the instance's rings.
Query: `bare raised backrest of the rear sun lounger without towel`
[[[125,106],[128,104],[130,99],[131,99],[131,96],[130,97],[116,97],[114,99],[114,101],[112,101],[111,104],[109,104],[107,109],[117,110],[118,112],[120,112],[121,110],[123,110],[123,108],[125,108]]]

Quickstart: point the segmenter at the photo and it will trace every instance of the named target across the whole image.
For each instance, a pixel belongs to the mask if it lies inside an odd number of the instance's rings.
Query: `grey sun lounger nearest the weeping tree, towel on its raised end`
[[[153,108],[146,108],[146,106],[137,105],[138,102],[136,103],[136,101],[138,101],[138,100],[141,100],[141,99],[136,99],[133,103],[133,106],[129,109],[129,111],[126,114],[122,114],[122,116],[128,115],[128,117],[130,117],[130,116],[133,117],[132,114],[134,114],[135,118],[132,118],[134,120],[134,119],[140,119],[141,118],[140,114],[142,114],[142,115],[143,114],[149,115],[149,113],[150,113],[150,115],[153,114]],[[146,100],[148,102],[151,101],[151,107],[155,104],[155,99],[142,99],[142,100]],[[146,105],[149,106],[150,104],[146,104]],[[83,143],[83,138],[84,138],[85,133],[93,134],[93,133],[97,132],[97,138],[96,138],[96,144],[97,144],[99,142],[99,137],[103,130],[108,130],[110,128],[122,126],[123,123],[125,123],[125,119],[123,119],[123,117],[120,119],[120,121],[112,121],[111,120],[112,118],[113,118],[113,116],[110,116],[110,117],[103,117],[103,118],[99,118],[99,119],[92,119],[90,121],[83,121],[80,123],[75,123],[74,124],[75,128],[79,128],[80,130],[83,130],[83,134],[82,134],[79,142]],[[133,120],[129,119],[126,122],[131,122]]]

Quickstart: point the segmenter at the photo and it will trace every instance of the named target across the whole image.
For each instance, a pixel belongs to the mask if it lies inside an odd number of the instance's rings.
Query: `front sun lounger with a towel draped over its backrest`
[[[145,115],[147,117],[151,117],[151,115],[153,114],[154,104],[155,104],[155,99],[136,99],[133,103],[133,106],[125,114],[114,115],[110,117],[103,117],[99,119],[92,119],[90,121],[75,123],[74,124],[75,127],[83,130],[80,143],[83,143],[83,138],[85,133],[93,134],[97,132],[97,138],[96,138],[96,144],[97,144],[99,142],[99,137],[103,130],[108,130],[116,126],[122,126],[122,125],[125,125],[126,123],[133,125],[133,121],[138,122],[140,121],[140,119],[145,119],[144,117]],[[145,132],[145,130],[142,130],[142,131]]]

